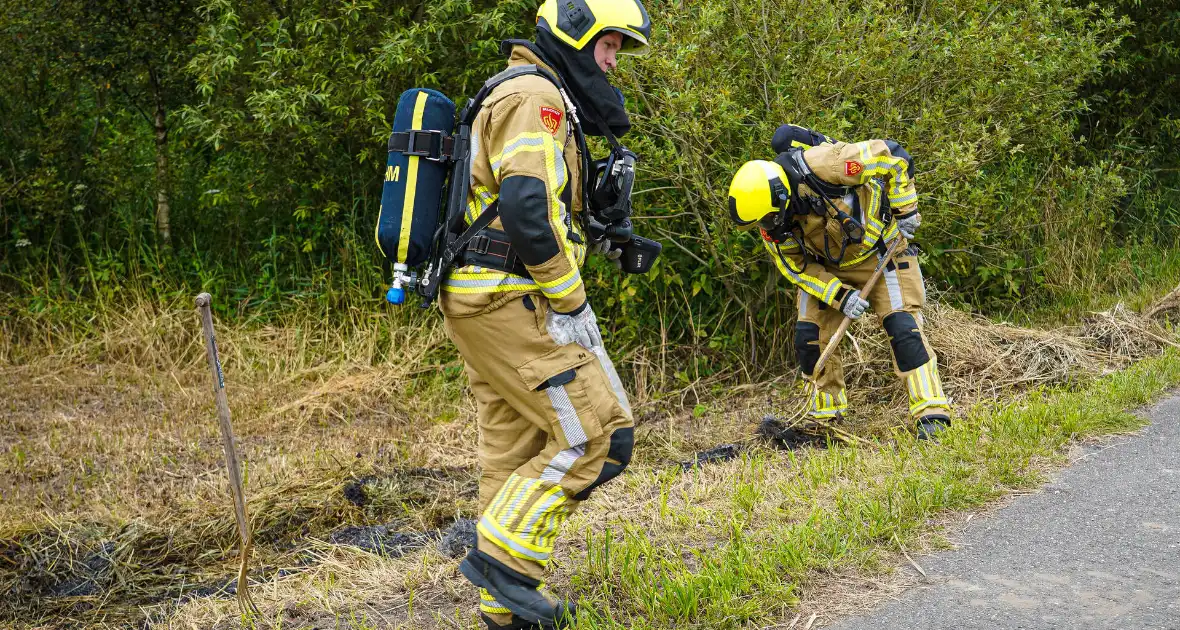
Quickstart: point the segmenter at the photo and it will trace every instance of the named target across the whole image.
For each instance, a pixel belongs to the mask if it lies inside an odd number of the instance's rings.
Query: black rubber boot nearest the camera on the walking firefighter
[[[478,549],[467,552],[459,563],[459,572],[476,586],[487,589],[512,615],[539,628],[565,628],[573,619],[573,604],[546,596],[539,590],[539,582],[504,566]]]

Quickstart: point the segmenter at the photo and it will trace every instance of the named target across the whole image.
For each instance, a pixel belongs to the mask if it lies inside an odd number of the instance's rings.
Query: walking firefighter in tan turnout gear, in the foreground
[[[509,67],[472,125],[467,222],[499,218],[444,282],[446,332],[466,363],[479,420],[477,546],[460,571],[490,629],[560,628],[573,604],[543,573],[563,523],[631,459],[627,394],[586,302],[581,267],[588,156],[583,134],[630,126],[608,83],[616,54],[648,46],[638,0],[546,0],[536,41],[505,42]],[[617,256],[617,250],[602,252]]]

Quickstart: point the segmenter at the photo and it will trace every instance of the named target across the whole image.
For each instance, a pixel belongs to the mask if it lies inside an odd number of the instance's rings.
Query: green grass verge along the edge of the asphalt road
[[[660,499],[629,524],[584,532],[585,557],[572,562],[582,598],[575,628],[781,621],[801,589],[822,576],[887,571],[903,549],[927,549],[933,524],[949,512],[1041,484],[1066,462],[1073,440],[1139,428],[1143,420],[1128,409],[1176,385],[1180,353],[1169,350],[1080,392],[977,409],[940,444],[898,432],[885,444],[802,457],[755,451],[702,481],[725,486],[716,503],[703,497],[703,506],[686,496],[682,506],[668,507],[671,488],[686,483],[673,478],[680,475],[629,478],[628,486],[660,488]],[[708,473],[684,473],[691,475]]]

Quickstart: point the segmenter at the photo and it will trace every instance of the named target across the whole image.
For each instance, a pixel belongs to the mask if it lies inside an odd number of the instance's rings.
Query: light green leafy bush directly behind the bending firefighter
[[[632,142],[645,181],[664,189],[640,199],[647,214],[682,215],[648,224],[691,251],[673,248],[636,310],[684,287],[706,297],[670,300],[670,319],[690,322],[714,349],[742,347],[750,332],[773,339],[771,352],[785,343],[778,333],[789,313],[763,306],[789,304],[773,297],[793,290],[774,278],[756,235],[735,232],[722,212],[729,173],[768,157],[782,122],[909,147],[927,273],[959,295],[1010,300],[1092,271],[1122,184],[1104,164],[1075,159],[1073,118],[1079,85],[1122,22],[1062,1],[913,11],[870,1],[792,5],[784,28],[784,14],[765,6],[667,7],[676,26],[664,54],[628,77],[647,131]]]

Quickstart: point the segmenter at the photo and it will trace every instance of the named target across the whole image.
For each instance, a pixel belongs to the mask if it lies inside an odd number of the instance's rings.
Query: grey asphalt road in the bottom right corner
[[[1180,629],[1180,396],[916,558],[925,584],[830,628]]]

